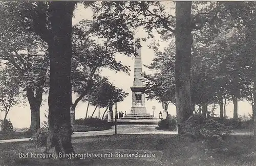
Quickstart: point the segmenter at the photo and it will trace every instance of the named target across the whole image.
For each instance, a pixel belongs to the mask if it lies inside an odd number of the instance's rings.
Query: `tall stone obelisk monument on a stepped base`
[[[142,82],[142,63],[141,63],[141,48],[137,48],[138,56],[135,56],[134,61],[134,81],[131,90],[132,96],[132,108],[131,113],[124,116],[126,119],[141,119],[141,118],[153,118],[152,115],[146,113],[145,107],[145,89],[146,87]]]

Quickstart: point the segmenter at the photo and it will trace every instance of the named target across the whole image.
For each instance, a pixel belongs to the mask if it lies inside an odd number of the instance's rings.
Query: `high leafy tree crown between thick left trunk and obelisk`
[[[121,22],[109,25],[108,28],[111,31],[106,30],[95,19],[82,20],[73,27],[72,90],[78,95],[74,107],[82,99],[87,100],[90,90],[97,86],[99,73],[96,73],[97,70],[100,72],[99,68],[109,68],[126,74],[130,72],[130,66],[117,61],[116,55],[137,55],[133,34],[126,31]]]

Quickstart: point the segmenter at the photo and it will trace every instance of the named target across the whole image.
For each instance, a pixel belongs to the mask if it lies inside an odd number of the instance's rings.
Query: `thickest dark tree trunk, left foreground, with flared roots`
[[[53,1],[50,4],[52,35],[48,40],[50,55],[49,133],[46,152],[71,154],[71,57],[72,15],[76,2]]]

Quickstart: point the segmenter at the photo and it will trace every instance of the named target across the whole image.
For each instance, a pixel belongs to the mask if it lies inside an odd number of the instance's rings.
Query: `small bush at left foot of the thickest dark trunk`
[[[31,137],[31,141],[39,146],[45,146],[48,136],[48,128],[40,128],[37,132]]]

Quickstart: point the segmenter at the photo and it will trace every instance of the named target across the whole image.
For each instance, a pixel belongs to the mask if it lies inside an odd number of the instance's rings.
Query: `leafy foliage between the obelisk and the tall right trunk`
[[[155,50],[156,58],[149,69],[156,70],[153,75],[142,74],[145,82],[147,99],[156,99],[159,102],[176,103],[175,99],[175,53],[173,42],[170,42],[163,52]]]

